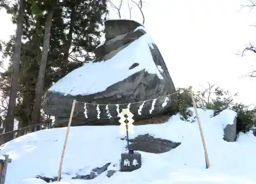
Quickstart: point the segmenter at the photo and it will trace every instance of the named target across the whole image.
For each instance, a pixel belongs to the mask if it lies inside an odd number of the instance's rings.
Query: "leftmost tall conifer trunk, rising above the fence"
[[[22,46],[22,34],[23,34],[23,15],[25,11],[25,0],[19,0],[19,10],[17,18],[17,29],[15,48],[12,60],[12,78],[11,78],[11,90],[10,98],[7,110],[7,117],[5,123],[5,132],[10,132],[14,128],[14,108],[16,104],[17,91],[18,91],[18,78],[19,78],[19,60],[20,60],[20,47]],[[5,136],[5,142],[12,140],[12,134]]]

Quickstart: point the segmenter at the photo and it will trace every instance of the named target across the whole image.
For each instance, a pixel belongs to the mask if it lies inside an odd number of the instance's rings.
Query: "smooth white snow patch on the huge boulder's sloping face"
[[[143,29],[143,27],[137,29]],[[149,46],[152,43],[154,41],[151,36],[145,34],[119,51],[113,58],[88,63],[70,72],[55,83],[49,91],[57,91],[65,95],[94,94],[143,69],[148,73],[156,73],[160,79],[163,79],[151,55]],[[129,70],[134,63],[139,65]]]

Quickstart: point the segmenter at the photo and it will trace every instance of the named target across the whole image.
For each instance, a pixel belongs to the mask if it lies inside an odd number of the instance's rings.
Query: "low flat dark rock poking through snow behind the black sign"
[[[154,138],[149,134],[139,135],[130,140],[129,149],[149,153],[163,153],[178,147],[181,143],[175,143],[166,139]]]

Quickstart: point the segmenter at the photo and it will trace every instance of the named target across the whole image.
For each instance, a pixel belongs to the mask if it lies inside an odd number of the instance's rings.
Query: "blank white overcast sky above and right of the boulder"
[[[256,54],[235,55],[256,35],[256,10],[242,9],[247,0],[144,0],[145,28],[159,47],[177,87],[207,82],[239,92],[237,101],[256,103],[256,78],[241,77],[256,67]],[[113,1],[116,5],[120,0]],[[132,4],[132,3],[131,3]],[[129,18],[124,3],[122,18]],[[0,11],[0,39],[15,32],[10,16]],[[118,18],[111,9],[109,18]],[[142,17],[133,6],[132,19]],[[255,39],[256,40],[256,39]]]

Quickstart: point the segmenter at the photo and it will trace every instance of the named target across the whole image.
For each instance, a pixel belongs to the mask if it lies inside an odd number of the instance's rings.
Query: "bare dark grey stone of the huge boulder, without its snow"
[[[109,62],[110,60],[114,59],[117,54],[124,48],[130,46],[132,43],[136,42],[143,36],[147,36],[146,34],[148,33],[146,33],[143,26],[132,20],[105,21],[105,42],[96,48],[96,59],[93,61],[93,63],[100,64]],[[74,99],[79,102],[88,102],[94,104],[122,104],[158,98],[152,114],[150,114],[152,101],[145,102],[142,109],[142,115],[138,115],[138,109],[141,103],[132,104],[130,111],[134,114],[134,120],[144,120],[156,115],[161,115],[166,111],[172,111],[173,113],[171,114],[175,114],[175,101],[177,100],[177,94],[173,94],[176,92],[176,89],[172,78],[169,75],[165,62],[155,43],[145,43],[144,45],[147,47],[148,52],[152,56],[151,60],[146,62],[148,62],[148,65],[153,64],[158,73],[150,73],[147,71],[147,69],[142,68],[139,71],[136,70],[137,72],[127,76],[124,80],[109,86],[104,91],[86,95],[72,95],[69,93],[65,94],[61,91],[53,90],[54,86],[58,82],[54,84],[44,96],[43,108],[47,115],[55,116],[55,126],[67,126],[72,108],[72,102]],[[141,47],[135,49],[141,49]],[[133,53],[130,53],[129,55],[133,55]],[[124,55],[123,58],[129,57],[129,55]],[[122,63],[122,60],[119,62]],[[90,65],[90,63],[88,65]],[[87,64],[82,67],[87,67]],[[116,66],[109,65],[109,67]],[[136,67],[140,67],[140,61],[132,62],[131,66],[127,67],[127,70],[129,69],[132,71],[136,69]],[[74,72],[77,72],[78,69],[73,70],[71,73],[74,74]],[[108,70],[108,68],[105,69]],[[101,73],[98,74],[101,75]],[[161,77],[159,77],[159,74]],[[63,81],[67,80],[65,86],[72,88],[72,80],[70,80],[69,77],[69,74],[66,75],[61,79],[61,82],[63,83]],[[102,83],[104,83],[104,77],[105,76],[102,75]],[[113,75],[113,77],[117,76]],[[77,78],[74,80],[82,80],[85,84],[87,83],[87,80],[93,80],[93,78],[90,78],[90,75],[87,78],[79,78],[79,76],[77,76]],[[167,105],[163,108],[162,103],[164,102],[165,97],[159,97],[168,94],[173,95],[169,96]],[[105,106],[100,106],[99,108],[101,111],[100,119],[97,119],[96,106],[93,105],[87,106],[88,118],[86,118],[84,116],[84,104],[77,103],[72,120],[72,126],[119,124],[116,106],[109,106],[109,111],[112,115],[111,119],[109,119],[108,114],[106,113]],[[127,108],[127,105],[120,106],[119,108]]]

